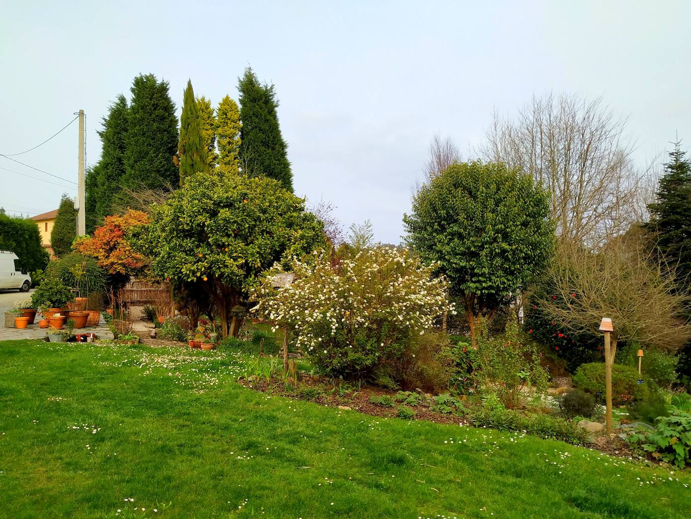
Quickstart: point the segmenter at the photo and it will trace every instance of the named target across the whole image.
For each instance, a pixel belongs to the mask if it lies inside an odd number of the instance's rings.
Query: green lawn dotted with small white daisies
[[[671,518],[691,509],[686,472],[268,397],[234,383],[240,362],[189,349],[0,343],[0,517]]]

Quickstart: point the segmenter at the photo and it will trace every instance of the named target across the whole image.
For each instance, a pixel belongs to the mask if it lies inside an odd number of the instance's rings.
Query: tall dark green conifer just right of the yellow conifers
[[[293,190],[287,145],[278,125],[278,100],[274,85],[261,84],[250,67],[238,82],[240,92],[240,163],[249,176],[267,176]]]

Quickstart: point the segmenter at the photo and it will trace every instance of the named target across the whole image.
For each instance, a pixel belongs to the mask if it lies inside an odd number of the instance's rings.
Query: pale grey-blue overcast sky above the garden
[[[1,13],[0,154],[84,109],[96,163],[101,118],[135,75],[168,81],[179,116],[188,78],[216,104],[251,65],[276,86],[296,194],[332,202],[346,229],[370,219],[386,243],[401,242],[431,138],[475,158],[492,114],[533,95],[602,96],[641,166],[677,135],[691,146],[691,2],[28,0]],[[77,181],[77,138],[75,122],[12,157],[26,165],[0,156],[0,206],[34,215],[76,195],[62,186]]]

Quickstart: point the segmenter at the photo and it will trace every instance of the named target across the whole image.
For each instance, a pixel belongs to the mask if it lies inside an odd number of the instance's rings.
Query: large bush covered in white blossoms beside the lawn
[[[448,304],[447,283],[408,251],[379,247],[334,261],[325,253],[293,260],[290,286],[275,289],[274,266],[254,291],[254,311],[296,334],[317,365],[363,376],[397,358]]]

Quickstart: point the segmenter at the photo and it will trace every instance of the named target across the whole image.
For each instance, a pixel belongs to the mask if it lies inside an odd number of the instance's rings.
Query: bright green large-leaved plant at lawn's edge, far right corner
[[[679,412],[660,419],[654,432],[632,435],[629,441],[640,445],[656,459],[684,468],[690,460],[691,415],[688,412]]]

